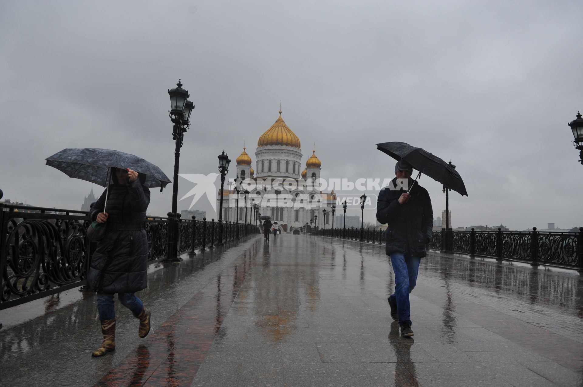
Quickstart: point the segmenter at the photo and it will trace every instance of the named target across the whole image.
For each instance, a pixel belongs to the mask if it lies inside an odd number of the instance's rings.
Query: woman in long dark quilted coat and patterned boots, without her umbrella
[[[147,237],[144,230],[150,190],[142,184],[146,175],[132,169],[111,168],[106,191],[89,211],[92,221],[106,223],[106,234],[91,258],[88,283],[97,292],[97,311],[101,321],[103,343],[92,356],[115,350],[114,294],[139,319],[138,336],[150,332],[150,311],[135,292],[147,287]]]

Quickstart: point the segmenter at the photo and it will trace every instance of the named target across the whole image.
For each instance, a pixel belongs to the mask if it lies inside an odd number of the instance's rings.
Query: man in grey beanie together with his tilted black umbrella
[[[409,294],[417,283],[419,264],[427,255],[433,229],[431,199],[417,179],[424,173],[459,193],[467,193],[459,173],[430,152],[401,142],[377,147],[398,160],[391,186],[384,187],[378,196],[377,221],[387,224],[385,253],[391,257],[395,274],[395,292],[388,298],[391,318],[399,321],[401,336],[410,337]],[[413,168],[419,171],[415,180],[411,178]]]

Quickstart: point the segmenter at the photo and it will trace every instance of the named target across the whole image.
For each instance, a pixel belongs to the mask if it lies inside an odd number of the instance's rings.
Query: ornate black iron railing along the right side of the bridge
[[[314,230],[322,235],[369,243],[385,243],[384,230],[325,229]],[[532,231],[454,231],[452,229],[433,232],[429,247],[445,253],[462,253],[530,262],[537,266],[554,265],[577,268],[583,271],[583,227],[579,232]]]

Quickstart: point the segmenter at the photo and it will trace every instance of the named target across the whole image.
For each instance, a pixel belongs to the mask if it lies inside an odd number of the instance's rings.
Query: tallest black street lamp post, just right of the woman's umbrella
[[[178,258],[178,221],[177,221],[177,206],[178,206],[178,165],[180,162],[180,148],[182,141],[184,141],[184,133],[189,127],[190,113],[194,109],[194,104],[188,101],[187,90],[182,88],[180,79],[176,84],[177,87],[168,90],[170,95],[170,120],[174,123],[172,130],[172,139],[176,141],[174,145],[174,180],[172,182],[172,212],[168,214],[168,246],[166,252],[166,259],[163,261],[179,262]]]

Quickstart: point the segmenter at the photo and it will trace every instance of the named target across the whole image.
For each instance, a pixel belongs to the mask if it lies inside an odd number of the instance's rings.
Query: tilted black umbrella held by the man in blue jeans
[[[468,196],[468,192],[459,173],[451,165],[448,165],[447,162],[427,152],[423,148],[416,148],[399,141],[391,141],[389,143],[377,144],[377,149],[396,160],[405,160],[420,173],[437,180],[445,187],[461,195]]]

